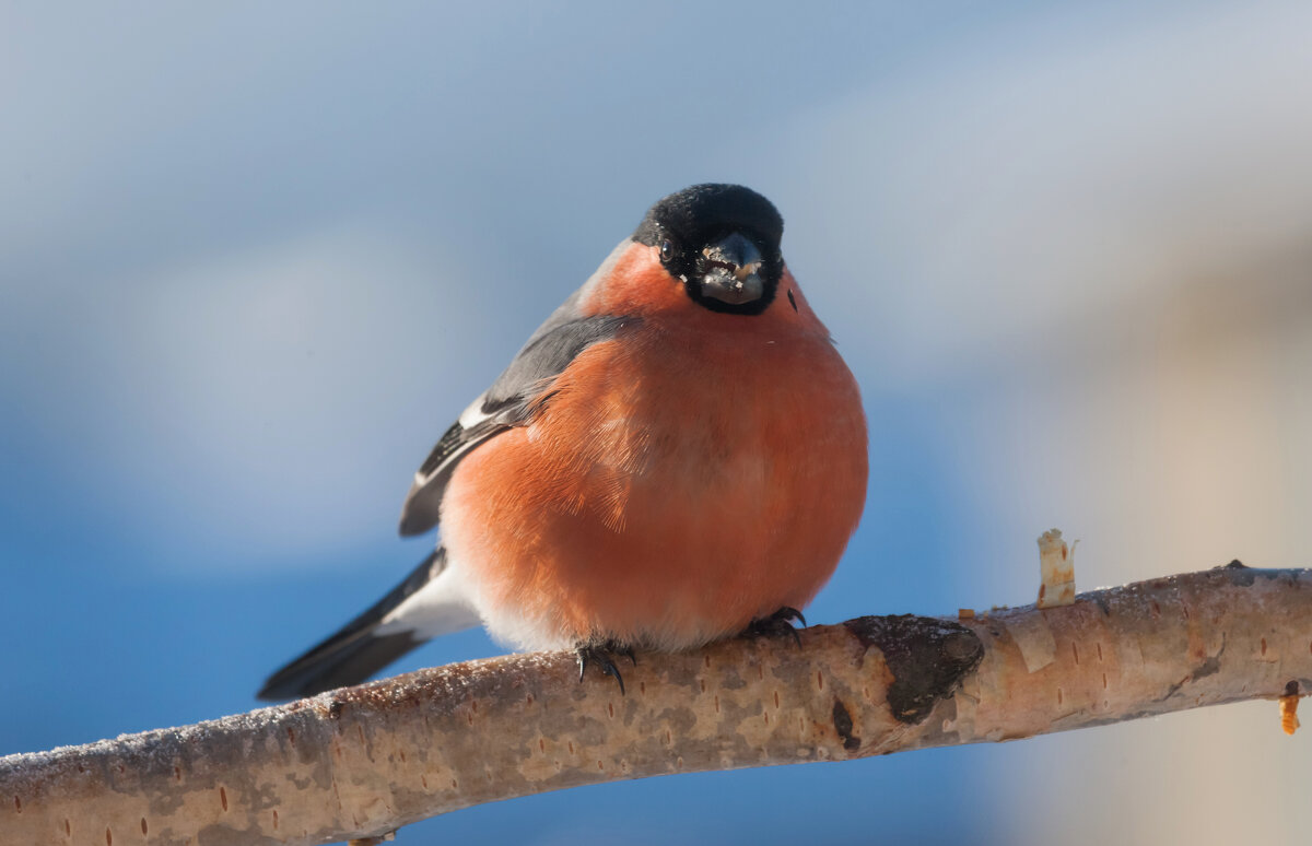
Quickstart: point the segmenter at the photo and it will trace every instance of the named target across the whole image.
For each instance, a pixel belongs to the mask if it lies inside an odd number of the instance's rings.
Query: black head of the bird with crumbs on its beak
[[[760,315],[783,274],[783,218],[741,185],[694,185],[647,212],[634,240],[660,249],[661,264],[699,306]]]

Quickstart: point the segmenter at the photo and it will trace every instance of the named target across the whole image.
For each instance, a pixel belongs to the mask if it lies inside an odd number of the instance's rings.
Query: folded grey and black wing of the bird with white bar
[[[446,483],[470,450],[506,429],[526,425],[531,420],[533,400],[550,390],[579,353],[614,337],[622,325],[636,323],[634,317],[580,315],[579,300],[584,290],[575,291],[538,327],[510,366],[429,453],[401,506],[401,536],[422,534],[437,525]]]

